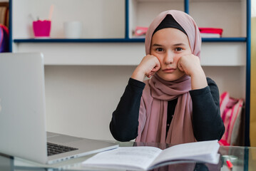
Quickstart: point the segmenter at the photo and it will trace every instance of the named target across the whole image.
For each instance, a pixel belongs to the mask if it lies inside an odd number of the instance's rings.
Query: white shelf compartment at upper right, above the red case
[[[245,0],[193,1],[190,3],[190,16],[198,27],[222,28],[222,37],[246,37]]]

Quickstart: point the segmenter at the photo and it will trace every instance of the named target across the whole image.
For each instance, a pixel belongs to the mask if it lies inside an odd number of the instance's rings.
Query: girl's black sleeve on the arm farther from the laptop
[[[220,117],[220,95],[216,83],[207,78],[208,86],[190,90],[193,103],[193,131],[195,139],[220,140],[225,126]]]

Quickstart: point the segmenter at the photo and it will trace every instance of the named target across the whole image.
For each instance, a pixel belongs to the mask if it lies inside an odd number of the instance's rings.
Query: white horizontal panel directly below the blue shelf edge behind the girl
[[[18,43],[16,51],[42,52],[46,65],[137,66],[145,56],[144,43]],[[245,42],[205,42],[201,63],[245,66],[245,52]]]

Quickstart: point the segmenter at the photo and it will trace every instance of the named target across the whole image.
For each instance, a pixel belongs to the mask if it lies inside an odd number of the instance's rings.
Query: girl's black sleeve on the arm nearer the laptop
[[[109,125],[113,138],[130,141],[138,136],[140,99],[145,83],[130,78]]]

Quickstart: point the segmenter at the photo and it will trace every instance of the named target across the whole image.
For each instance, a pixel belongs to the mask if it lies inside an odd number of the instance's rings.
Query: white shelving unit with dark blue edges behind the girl
[[[52,3],[51,38],[34,38],[31,16],[46,19]],[[245,145],[249,145],[250,0],[10,0],[10,6],[12,51],[41,51],[46,66],[136,66],[145,55],[145,39],[133,37],[135,26],[148,26],[168,9],[185,11],[199,27],[223,28],[222,38],[202,39],[201,62],[219,82],[220,91],[230,90],[235,98],[245,99]],[[81,38],[64,38],[63,22],[72,20],[83,22]],[[233,73],[230,81],[240,85],[225,83],[227,76],[215,72],[220,68]]]

